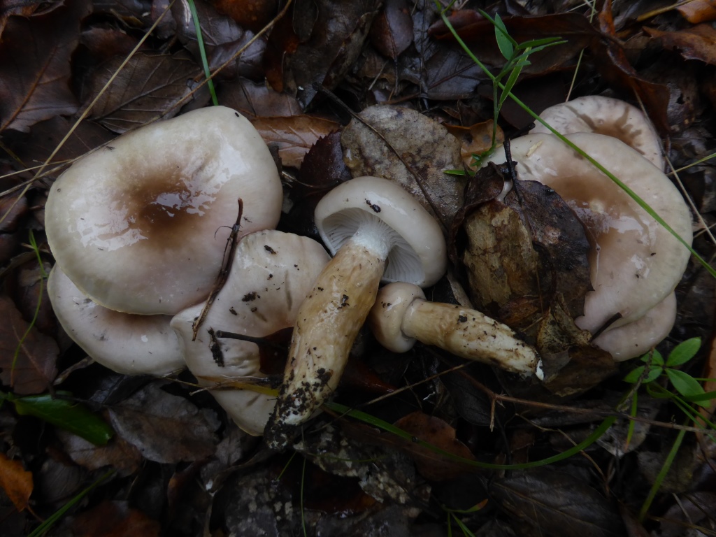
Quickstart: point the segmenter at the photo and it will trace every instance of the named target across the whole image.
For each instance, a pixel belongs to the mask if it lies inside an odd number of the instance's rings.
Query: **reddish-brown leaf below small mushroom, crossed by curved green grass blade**
[[[455,438],[455,429],[440,418],[422,412],[412,412],[412,414],[397,420],[394,425],[441,450],[458,457],[475,460],[468,447]],[[469,467],[465,463],[455,462],[445,455],[416,443],[402,442],[402,450],[412,456],[417,471],[429,480],[453,479],[469,471]]]

